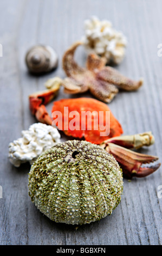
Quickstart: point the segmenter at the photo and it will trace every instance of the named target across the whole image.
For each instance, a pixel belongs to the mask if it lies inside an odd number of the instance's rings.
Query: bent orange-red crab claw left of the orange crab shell
[[[57,95],[60,85],[57,83],[48,90],[33,93],[29,95],[29,107],[36,119],[41,123],[51,125],[53,119],[50,118],[45,105],[47,105]]]

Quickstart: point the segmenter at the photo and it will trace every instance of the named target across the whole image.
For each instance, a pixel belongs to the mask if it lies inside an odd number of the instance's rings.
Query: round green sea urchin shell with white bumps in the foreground
[[[57,143],[31,166],[29,196],[55,222],[86,224],[112,214],[122,193],[114,157],[86,141]]]

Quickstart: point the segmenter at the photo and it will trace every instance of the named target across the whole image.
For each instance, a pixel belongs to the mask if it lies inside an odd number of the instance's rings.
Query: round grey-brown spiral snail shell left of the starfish
[[[31,73],[41,74],[55,69],[58,65],[58,57],[50,46],[36,45],[28,50],[25,62]]]

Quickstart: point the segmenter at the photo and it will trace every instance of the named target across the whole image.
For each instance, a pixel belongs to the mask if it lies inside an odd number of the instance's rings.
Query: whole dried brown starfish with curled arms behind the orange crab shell
[[[142,85],[142,79],[138,82],[122,76],[118,71],[106,65],[106,59],[89,54],[86,62],[87,69],[81,68],[74,60],[76,48],[82,42],[75,42],[63,56],[63,69],[68,76],[62,80],[64,92],[69,94],[83,93],[90,90],[97,99],[111,102],[121,89],[131,91],[137,90]]]

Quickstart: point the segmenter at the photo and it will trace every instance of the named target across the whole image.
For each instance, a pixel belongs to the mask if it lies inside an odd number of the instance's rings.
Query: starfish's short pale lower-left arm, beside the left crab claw
[[[64,87],[64,92],[68,94],[83,93],[88,90],[86,84],[74,80],[73,78],[67,77],[62,81],[62,86]]]

